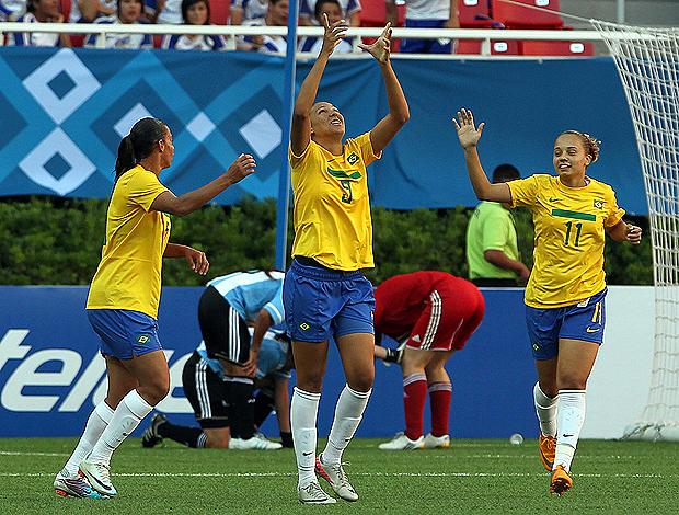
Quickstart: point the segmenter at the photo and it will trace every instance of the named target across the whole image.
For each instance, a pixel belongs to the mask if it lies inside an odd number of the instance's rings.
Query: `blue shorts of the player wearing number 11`
[[[526,306],[526,323],[533,358],[551,359],[559,355],[559,340],[603,343],[607,289],[573,306],[539,309]]]

